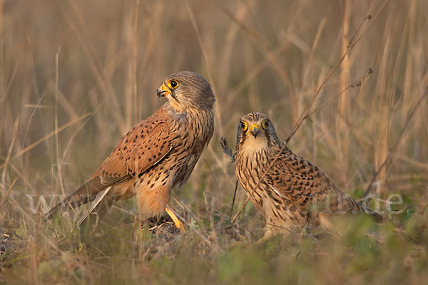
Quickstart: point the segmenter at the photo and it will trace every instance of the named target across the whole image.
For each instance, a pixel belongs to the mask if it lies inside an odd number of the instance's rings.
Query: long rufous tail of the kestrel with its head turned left
[[[46,214],[46,218],[52,219],[52,217],[54,217],[54,214],[58,212],[59,209],[65,211],[67,209],[76,208],[88,202],[92,202],[96,198],[98,192],[106,189],[109,186],[111,185],[102,184],[99,176],[88,180],[83,185],[81,185],[81,187],[78,187],[78,190],[73,192],[73,194],[66,197],[66,199],[63,199],[55,207],[53,207]]]

